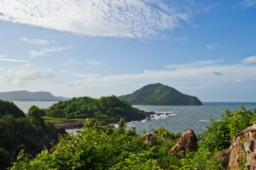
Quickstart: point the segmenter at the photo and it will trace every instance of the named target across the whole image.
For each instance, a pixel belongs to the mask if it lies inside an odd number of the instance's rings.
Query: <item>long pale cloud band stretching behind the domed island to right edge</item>
[[[218,70],[222,76],[215,76],[213,71]],[[108,75],[102,76],[98,74],[71,74],[81,79],[75,81],[69,81],[66,85],[76,87],[80,89],[84,86],[89,86],[90,91],[87,91],[90,95],[96,95],[96,89],[108,88],[108,92],[100,90],[100,95],[111,94],[127,94],[127,90],[120,90],[120,88],[130,89],[134,85],[138,86],[141,83],[149,84],[155,82],[162,82],[163,84],[171,85],[172,87],[184,88],[184,89],[202,89],[202,88],[225,88],[225,86],[234,85],[234,79],[243,77],[244,79],[256,79],[256,65],[204,65],[203,67],[189,67],[178,68],[174,70],[154,70],[144,71],[140,74],[121,74],[121,75]],[[84,79],[83,79],[84,78]],[[226,87],[227,88],[227,87]],[[229,87],[230,88],[230,87]],[[136,89],[133,89],[134,91]],[[119,93],[119,91],[125,91]],[[132,92],[131,91],[131,92]],[[89,95],[86,94],[86,95]]]

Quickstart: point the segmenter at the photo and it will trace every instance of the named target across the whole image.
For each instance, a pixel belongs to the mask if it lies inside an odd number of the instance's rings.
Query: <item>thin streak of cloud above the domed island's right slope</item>
[[[189,68],[189,67],[202,67],[205,65],[213,65],[218,62],[222,62],[224,59],[218,59],[218,60],[202,60],[202,61],[193,61],[193,62],[187,62],[187,63],[181,63],[181,64],[169,64],[165,65],[166,68],[176,69],[176,68]]]

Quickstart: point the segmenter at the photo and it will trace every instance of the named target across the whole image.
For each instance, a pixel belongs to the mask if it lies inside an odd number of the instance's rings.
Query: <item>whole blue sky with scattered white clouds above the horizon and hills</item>
[[[256,0],[0,0],[0,40],[0,92],[256,102]]]

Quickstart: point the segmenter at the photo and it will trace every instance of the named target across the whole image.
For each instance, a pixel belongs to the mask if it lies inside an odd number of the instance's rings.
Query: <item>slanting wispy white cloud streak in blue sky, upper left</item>
[[[59,51],[63,51],[71,48],[73,48],[73,45],[68,45],[64,47],[47,47],[47,48],[43,48],[41,51],[31,50],[29,51],[29,54],[31,55],[31,57],[38,57],[38,56],[45,56],[47,55],[47,53],[59,52]]]

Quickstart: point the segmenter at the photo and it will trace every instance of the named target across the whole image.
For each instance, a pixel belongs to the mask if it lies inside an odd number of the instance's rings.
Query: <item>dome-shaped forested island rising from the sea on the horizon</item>
[[[132,94],[119,96],[133,105],[202,105],[195,96],[182,94],[175,88],[161,83],[145,85]]]

